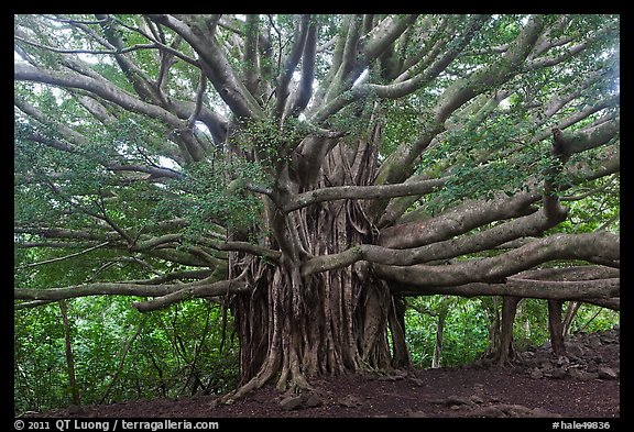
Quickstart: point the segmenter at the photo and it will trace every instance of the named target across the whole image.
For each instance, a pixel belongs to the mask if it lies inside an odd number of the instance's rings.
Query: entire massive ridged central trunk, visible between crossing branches
[[[375,158],[364,143],[339,143],[311,185],[289,175],[292,192],[373,180]],[[343,168],[343,169],[342,169]],[[242,387],[232,398],[265,383],[277,388],[309,388],[308,378],[391,366],[392,323],[397,366],[408,364],[404,350],[403,308],[371,267],[351,266],[304,277],[303,257],[335,254],[373,243],[376,229],[358,200],[327,201],[289,214],[269,203],[267,247],[282,251],[278,263],[232,253],[230,276],[247,272],[254,288],[232,302],[240,341]],[[299,246],[299,247],[297,247]]]

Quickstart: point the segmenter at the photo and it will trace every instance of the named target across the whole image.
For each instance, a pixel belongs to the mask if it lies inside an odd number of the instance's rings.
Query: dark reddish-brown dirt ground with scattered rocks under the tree
[[[556,358],[548,346],[512,366],[488,362],[314,379],[313,392],[273,386],[230,405],[216,396],[69,407],[34,417],[63,418],[502,418],[620,417],[620,333],[580,334]]]

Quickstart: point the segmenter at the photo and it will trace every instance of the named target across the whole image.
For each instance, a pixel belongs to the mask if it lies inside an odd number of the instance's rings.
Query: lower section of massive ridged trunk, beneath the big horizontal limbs
[[[256,259],[251,266],[255,291],[233,304],[245,390],[270,379],[281,390],[307,389],[307,377],[391,365],[392,296],[365,265],[308,278]],[[408,362],[406,353],[398,361]]]

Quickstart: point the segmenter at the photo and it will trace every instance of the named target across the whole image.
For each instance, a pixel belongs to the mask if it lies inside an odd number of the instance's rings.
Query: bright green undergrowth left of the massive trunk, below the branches
[[[83,403],[225,392],[236,386],[238,348],[221,308],[206,301],[139,315],[130,298],[70,302],[75,372]],[[230,318],[229,318],[230,319]],[[15,412],[68,405],[64,332],[56,303],[15,311]],[[231,322],[227,323],[228,328]],[[39,377],[35,384],[32,377]]]

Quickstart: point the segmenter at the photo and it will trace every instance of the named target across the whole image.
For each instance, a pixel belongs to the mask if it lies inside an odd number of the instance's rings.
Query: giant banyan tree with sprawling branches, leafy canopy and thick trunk
[[[406,298],[617,310],[619,25],[15,15],[15,308],[219,303],[233,397],[408,364]]]

